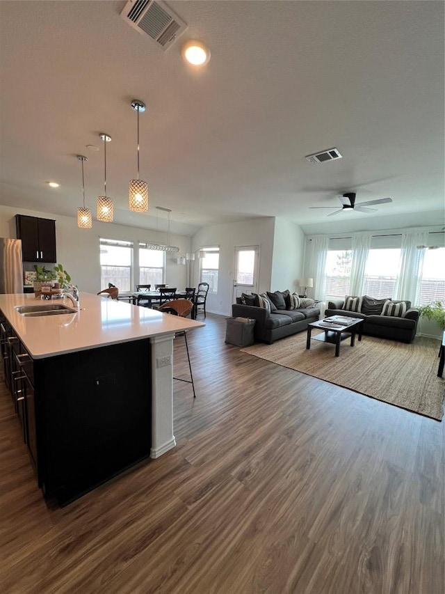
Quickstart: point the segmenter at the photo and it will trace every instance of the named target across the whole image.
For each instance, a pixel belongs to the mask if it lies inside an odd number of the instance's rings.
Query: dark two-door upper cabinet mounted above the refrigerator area
[[[16,214],[15,224],[24,262],[57,262],[56,221]]]

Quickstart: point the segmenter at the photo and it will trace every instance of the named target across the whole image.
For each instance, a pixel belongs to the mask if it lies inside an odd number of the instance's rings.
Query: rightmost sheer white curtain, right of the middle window
[[[401,265],[396,282],[395,298],[419,304],[423,258],[428,245],[428,233],[402,233]]]

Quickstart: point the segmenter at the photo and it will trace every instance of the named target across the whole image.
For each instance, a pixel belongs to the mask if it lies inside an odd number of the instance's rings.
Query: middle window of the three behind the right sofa
[[[395,295],[400,249],[370,249],[364,272],[364,295],[391,299]]]

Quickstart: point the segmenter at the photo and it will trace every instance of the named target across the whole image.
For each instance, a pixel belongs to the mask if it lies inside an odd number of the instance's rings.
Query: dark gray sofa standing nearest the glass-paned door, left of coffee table
[[[310,322],[316,322],[320,315],[320,309],[317,306],[298,309],[280,308],[268,311],[266,308],[245,305],[241,303],[241,299],[238,299],[238,301],[240,302],[232,304],[234,318],[253,318],[256,320],[254,325],[255,341],[270,345],[278,338],[291,336],[291,334],[307,329],[307,325]]]

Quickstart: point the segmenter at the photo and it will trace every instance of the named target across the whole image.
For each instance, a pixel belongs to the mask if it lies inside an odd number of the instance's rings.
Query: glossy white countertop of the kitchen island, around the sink
[[[80,310],[76,313],[26,317],[16,310],[20,305],[45,303],[50,302],[35,299],[33,293],[0,295],[0,310],[34,359],[174,334],[205,325],[85,292],[80,294]],[[51,303],[73,307],[66,297]]]

